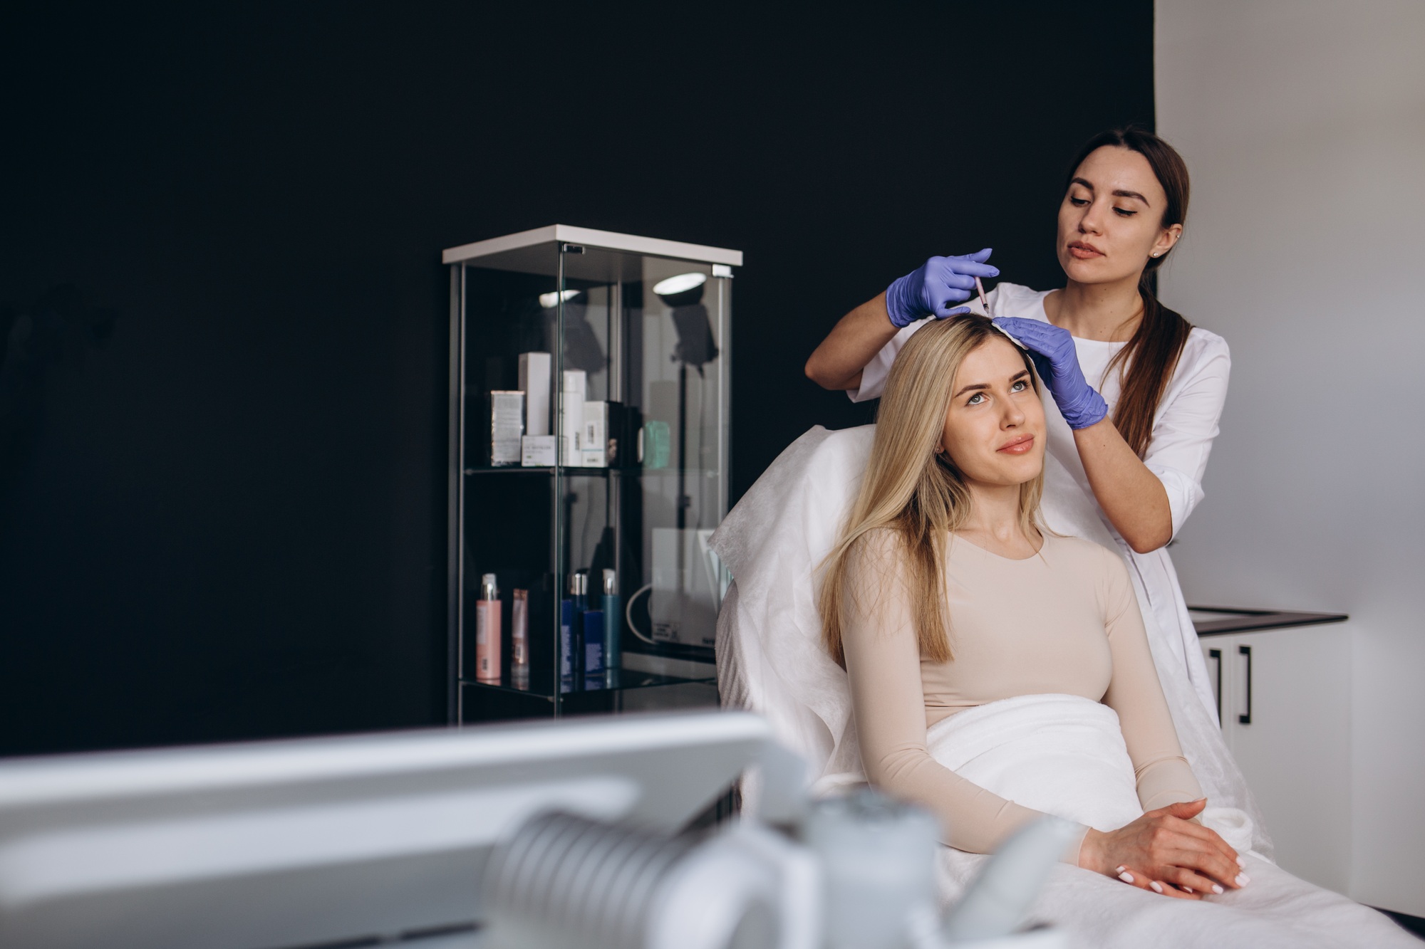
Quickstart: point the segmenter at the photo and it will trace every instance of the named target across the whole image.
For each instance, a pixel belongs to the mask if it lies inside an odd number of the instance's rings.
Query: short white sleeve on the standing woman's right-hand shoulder
[[[1174,537],[1203,500],[1203,474],[1223,418],[1231,365],[1221,336],[1203,333],[1188,339],[1153,422],[1153,440],[1143,463],[1167,490]]]

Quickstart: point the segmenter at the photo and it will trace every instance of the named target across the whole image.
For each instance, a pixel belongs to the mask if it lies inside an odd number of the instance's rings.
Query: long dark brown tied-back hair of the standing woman
[[[1187,162],[1177,154],[1173,145],[1143,128],[1129,125],[1100,133],[1090,138],[1079,157],[1069,165],[1069,175],[1064,181],[1064,191],[1073,181],[1074,172],[1094,150],[1104,145],[1127,148],[1136,151],[1149,161],[1154,177],[1167,194],[1167,205],[1163,208],[1160,227],[1168,228],[1183,224],[1187,219]],[[1187,345],[1187,335],[1193,332],[1193,325],[1178,313],[1159,302],[1154,288],[1157,286],[1157,268],[1163,265],[1168,249],[1163,256],[1150,256],[1139,278],[1139,295],[1143,298],[1143,322],[1133,332],[1129,345],[1120,349],[1109,362],[1104,372],[1119,370],[1123,380],[1119,406],[1113,410],[1113,425],[1119,429],[1123,440],[1137,452],[1139,457],[1149,450],[1153,440],[1153,416],[1157,413],[1157,403],[1167,389],[1177,359]],[[1100,382],[1102,383],[1102,382]]]

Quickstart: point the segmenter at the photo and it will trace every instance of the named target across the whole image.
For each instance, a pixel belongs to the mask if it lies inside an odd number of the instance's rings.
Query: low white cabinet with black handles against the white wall
[[[1277,862],[1345,893],[1351,872],[1351,624],[1201,637],[1223,735]]]

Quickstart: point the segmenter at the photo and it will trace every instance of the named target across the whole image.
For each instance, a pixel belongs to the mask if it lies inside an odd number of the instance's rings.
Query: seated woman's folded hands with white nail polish
[[[1149,811],[1117,831],[1090,829],[1079,851],[1079,866],[1117,876],[1130,886],[1164,896],[1201,899],[1250,881],[1245,861],[1216,831],[1193,818],[1207,798]]]

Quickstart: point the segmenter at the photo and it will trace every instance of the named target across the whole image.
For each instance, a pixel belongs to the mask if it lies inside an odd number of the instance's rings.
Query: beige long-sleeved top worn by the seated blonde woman
[[[926,750],[926,730],[1000,698],[1066,694],[1119,714],[1144,811],[1203,797],[1177,741],[1127,569],[1114,553],[1054,536],[1027,560],[956,536],[946,551],[949,663],[921,660],[889,531],[872,534],[849,564],[852,608],[842,643],[872,784],[935,812],[945,844],[988,854],[1040,812],[939,764]]]

